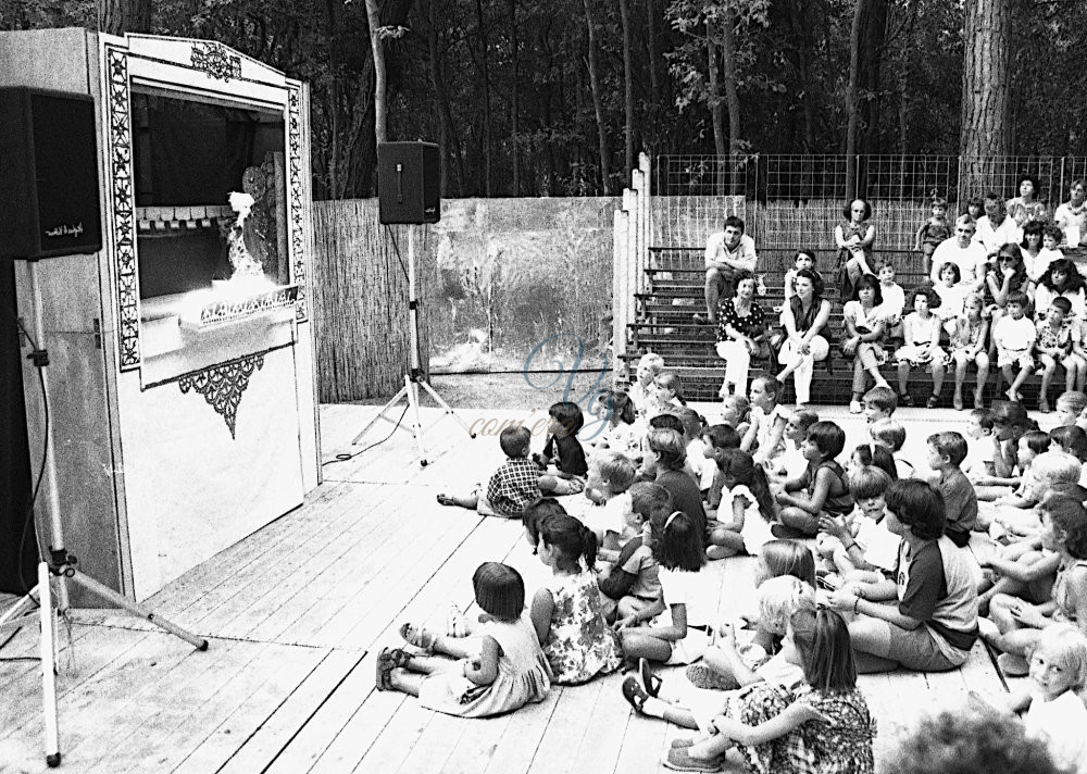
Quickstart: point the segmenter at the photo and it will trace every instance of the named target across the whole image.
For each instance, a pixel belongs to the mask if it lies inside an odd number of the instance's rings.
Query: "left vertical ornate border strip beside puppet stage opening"
[[[107,46],[105,77],[110,196],[113,204],[113,263],[117,283],[117,342],[121,348],[121,371],[132,371],[140,366],[141,357],[127,51]]]

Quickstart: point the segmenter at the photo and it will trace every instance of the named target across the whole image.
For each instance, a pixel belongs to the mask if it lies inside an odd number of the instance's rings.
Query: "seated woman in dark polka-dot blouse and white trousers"
[[[770,353],[766,344],[766,315],[754,302],[754,275],[741,270],[736,274],[736,295],[717,305],[717,354],[725,361],[725,380],[721,397],[747,395],[747,377],[752,358]]]

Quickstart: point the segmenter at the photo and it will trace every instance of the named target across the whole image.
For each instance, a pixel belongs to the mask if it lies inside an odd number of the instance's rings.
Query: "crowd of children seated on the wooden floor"
[[[653,357],[599,396],[594,424],[551,407],[542,454],[526,427],[503,429],[487,487],[438,500],[521,520],[550,577],[529,598],[516,570],[480,565],[478,617],[404,624],[377,687],[488,716],[627,664],[637,712],[696,732],[670,769],[717,771],[735,749],[758,772],[863,774],[875,722],[857,675],[957,669],[983,637],[1030,678],[991,711],[1022,713],[1087,772],[1087,395],[1061,396],[1050,433],[1017,402],[976,409],[965,434],[928,436],[923,473],[894,389],[863,395],[867,437],[848,452],[838,424],[786,411],[779,389],[757,376],[708,425]],[[971,544],[988,540],[979,564]],[[720,576],[702,570],[744,554],[755,609],[721,621]]]

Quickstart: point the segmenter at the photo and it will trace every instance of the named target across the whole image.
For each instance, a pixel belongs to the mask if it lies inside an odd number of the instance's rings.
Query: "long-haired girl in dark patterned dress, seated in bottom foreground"
[[[875,721],[857,689],[846,622],[832,610],[802,610],[789,620],[787,639],[805,684],[795,691],[761,684],[729,697],[708,734],[673,742],[666,767],[717,771],[725,752],[736,747],[748,769],[760,774],[875,771]]]

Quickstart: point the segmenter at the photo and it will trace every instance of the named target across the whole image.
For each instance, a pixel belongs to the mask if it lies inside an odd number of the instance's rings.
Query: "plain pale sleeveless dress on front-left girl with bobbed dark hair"
[[[542,701],[551,689],[551,667],[540,650],[536,629],[526,614],[513,622],[488,621],[480,635],[499,647],[498,675],[490,685],[476,685],[464,676],[464,660],[448,671],[423,678],[418,702],[428,710],[461,717],[487,717]]]

